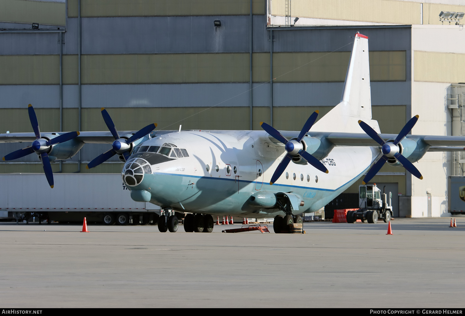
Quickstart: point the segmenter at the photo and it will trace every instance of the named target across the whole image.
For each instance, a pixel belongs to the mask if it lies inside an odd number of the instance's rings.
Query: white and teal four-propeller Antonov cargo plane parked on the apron
[[[277,131],[262,123],[263,130],[153,132],[156,124],[151,124],[119,133],[108,112],[102,108],[101,113],[110,133],[41,134],[29,105],[34,133],[1,134],[0,142],[32,146],[3,160],[38,154],[53,187],[50,162],[71,158],[85,143],[111,143],[87,168],[119,155],[126,162],[121,177],[131,198],[159,205],[166,215],[159,218],[161,232],[177,231],[173,210],[189,213],[186,232],[212,232],[213,216],[222,215],[274,217],[274,231],[282,232],[302,222],[297,214],[319,210],[365,173],[363,181],[370,181],[385,163],[422,179],[412,162],[427,151],[463,150],[465,145],[460,136],[408,135],[419,116],[399,135],[380,134],[372,120],[368,37],[359,32],[341,102],[316,123],[318,112],[312,113],[300,131]]]

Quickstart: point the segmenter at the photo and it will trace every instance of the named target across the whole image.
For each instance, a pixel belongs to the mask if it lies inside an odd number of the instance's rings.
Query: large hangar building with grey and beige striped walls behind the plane
[[[399,133],[416,114],[413,134],[465,133],[464,20],[439,20],[441,11],[465,12],[464,0],[0,6],[0,133],[32,132],[28,103],[43,131],[106,130],[101,107],[119,130],[153,122],[158,129],[259,129],[261,121],[299,130],[313,110],[321,117],[339,103],[357,31],[370,37],[372,115],[382,133]],[[1,155],[23,147],[2,144]],[[116,158],[85,168],[106,150],[87,144],[53,171],[120,173]],[[372,181],[395,193],[396,216],[448,216],[447,176],[463,175],[464,162],[459,153],[430,152],[417,164],[424,180],[385,165]],[[19,172],[42,173],[41,163],[29,155],[0,164],[0,173]]]

